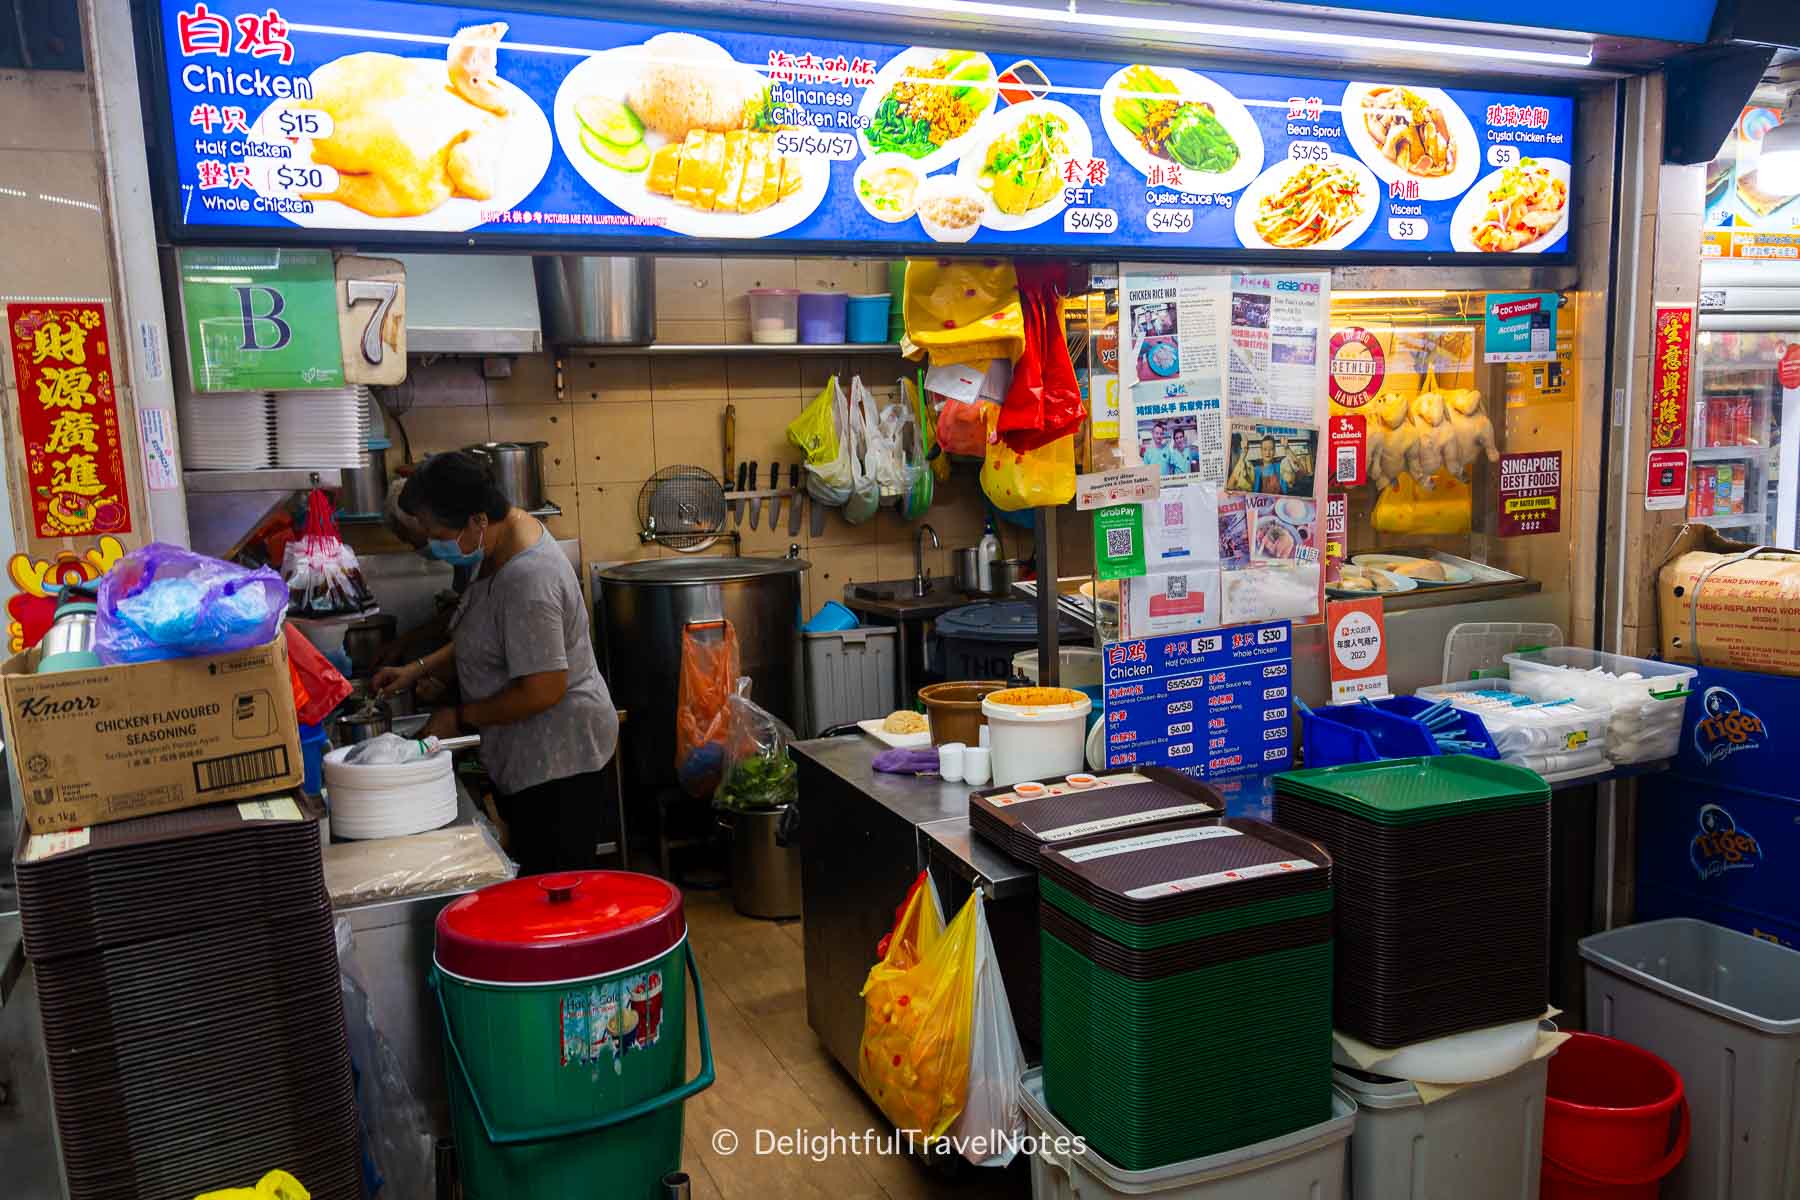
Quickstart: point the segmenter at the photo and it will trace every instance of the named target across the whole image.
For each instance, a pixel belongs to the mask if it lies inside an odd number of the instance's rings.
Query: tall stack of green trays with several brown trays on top
[[[1260,820],[1046,847],[1044,1097],[1143,1171],[1332,1112],[1332,860]]]

